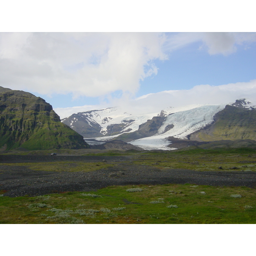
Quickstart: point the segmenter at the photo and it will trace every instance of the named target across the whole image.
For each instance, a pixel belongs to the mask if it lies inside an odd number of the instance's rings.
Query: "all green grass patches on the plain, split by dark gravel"
[[[254,153],[254,154],[252,154]],[[105,155],[125,152],[111,151]],[[197,171],[256,171],[255,152],[127,152],[129,164]],[[254,163],[255,162],[255,163]],[[2,164],[3,165],[3,164]],[[17,163],[33,170],[88,172],[109,163]],[[127,189],[141,190],[129,192]],[[194,184],[111,186],[94,192],[64,192],[9,198],[0,191],[1,224],[255,224],[256,189]]]

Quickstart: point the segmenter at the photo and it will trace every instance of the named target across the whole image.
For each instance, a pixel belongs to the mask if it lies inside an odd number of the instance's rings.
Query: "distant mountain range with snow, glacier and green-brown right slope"
[[[230,105],[169,107],[160,113],[144,116],[132,116],[124,112],[120,114],[118,108],[77,115],[90,127],[97,126],[96,140],[122,140],[144,149],[171,149],[170,137],[190,141],[256,140],[255,108],[256,104],[240,99]],[[75,114],[63,119],[63,122],[77,129]],[[92,135],[82,126],[79,128],[84,137]]]

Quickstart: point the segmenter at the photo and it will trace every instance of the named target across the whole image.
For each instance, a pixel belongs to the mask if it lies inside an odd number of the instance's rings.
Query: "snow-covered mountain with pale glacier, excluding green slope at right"
[[[227,104],[168,107],[158,113],[133,115],[123,109],[106,108],[73,114],[62,119],[84,138],[97,141],[123,140],[144,149],[172,149],[169,137],[187,139],[215,122],[215,115]],[[236,108],[255,110],[256,104],[246,99],[229,103]]]

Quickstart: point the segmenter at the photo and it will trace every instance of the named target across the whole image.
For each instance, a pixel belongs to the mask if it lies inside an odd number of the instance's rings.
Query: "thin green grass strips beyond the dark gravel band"
[[[105,151],[103,153],[87,153],[87,150],[59,150],[58,155],[94,155],[94,156],[129,156],[130,159],[122,163],[156,166],[157,168],[191,169],[195,171],[233,171],[234,167],[240,171],[256,171],[256,151],[250,149],[231,150],[180,150],[180,151]],[[51,151],[29,151],[26,154],[47,155]],[[3,165],[26,166],[41,171],[69,171],[89,172],[114,166],[114,163],[83,163],[83,162],[49,162],[49,163],[2,163]],[[1,165],[1,164],[0,164]]]

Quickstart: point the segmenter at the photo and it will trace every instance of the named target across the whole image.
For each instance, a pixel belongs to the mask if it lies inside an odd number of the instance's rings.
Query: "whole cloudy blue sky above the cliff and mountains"
[[[255,71],[255,32],[0,33],[0,86],[40,96],[57,113],[177,90],[185,104],[198,86],[242,83],[239,96]]]

